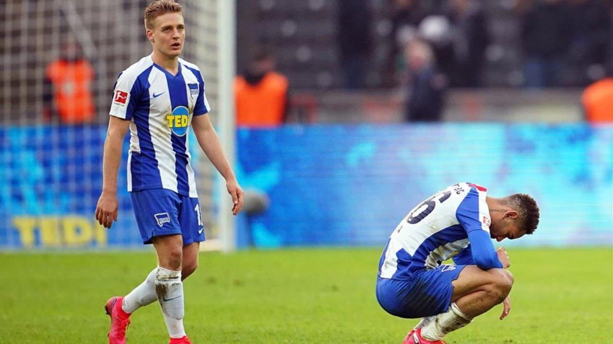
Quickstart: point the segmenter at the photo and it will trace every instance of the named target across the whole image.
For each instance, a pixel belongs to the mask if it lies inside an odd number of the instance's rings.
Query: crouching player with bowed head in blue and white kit
[[[476,184],[437,192],[400,222],[379,260],[376,296],[386,312],[422,318],[405,344],[440,344],[447,333],[504,302],[509,314],[513,275],[503,247],[491,239],[532,234],[539,208],[529,195],[487,196]],[[457,254],[456,254],[457,253]],[[453,264],[441,264],[453,258]]]

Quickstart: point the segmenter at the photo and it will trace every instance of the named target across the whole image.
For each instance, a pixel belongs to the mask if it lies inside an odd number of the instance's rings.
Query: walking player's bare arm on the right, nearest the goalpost
[[[200,144],[200,148],[207,155],[208,160],[211,160],[213,166],[221,173],[224,179],[226,179],[226,188],[230,196],[232,196],[232,214],[236,215],[243,208],[243,189],[238,185],[234,171],[226,155],[224,155],[223,149],[221,149],[221,143],[219,138],[211,124],[211,120],[208,116],[200,115],[193,116],[191,122],[194,134]]]

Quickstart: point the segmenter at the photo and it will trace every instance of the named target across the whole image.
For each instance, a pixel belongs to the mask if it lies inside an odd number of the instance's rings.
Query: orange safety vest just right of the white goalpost
[[[234,80],[236,124],[244,127],[276,127],[283,123],[287,102],[287,78],[268,72],[256,85],[244,77]]]

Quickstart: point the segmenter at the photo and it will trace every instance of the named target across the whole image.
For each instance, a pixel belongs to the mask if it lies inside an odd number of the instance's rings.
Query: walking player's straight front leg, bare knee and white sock
[[[162,315],[170,338],[185,337],[183,316],[183,237],[181,234],[156,236],[151,239],[158,254],[158,271],[155,276],[155,293],[162,308]]]

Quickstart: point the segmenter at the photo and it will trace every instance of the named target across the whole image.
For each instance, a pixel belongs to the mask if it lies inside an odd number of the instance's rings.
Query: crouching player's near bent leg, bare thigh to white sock
[[[475,316],[503,302],[511,291],[513,277],[504,269],[484,271],[466,266],[452,285],[452,304],[447,312],[437,315],[419,333],[427,340],[441,340],[447,333],[466,326]]]

